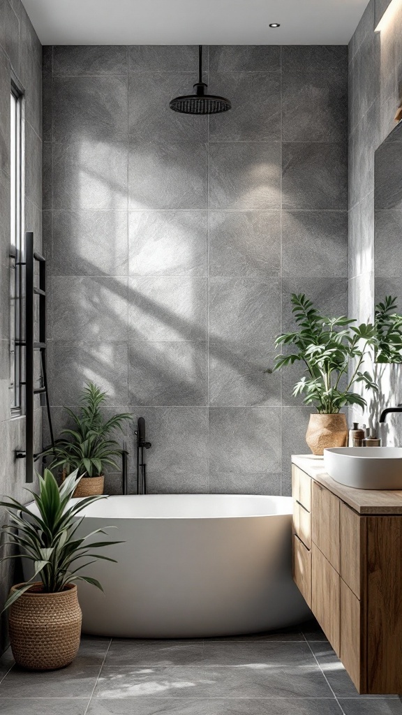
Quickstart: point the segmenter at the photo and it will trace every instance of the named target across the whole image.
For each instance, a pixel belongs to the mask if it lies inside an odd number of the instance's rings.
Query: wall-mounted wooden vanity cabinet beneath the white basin
[[[401,694],[402,495],[295,464],[292,488],[295,583],[358,691]]]

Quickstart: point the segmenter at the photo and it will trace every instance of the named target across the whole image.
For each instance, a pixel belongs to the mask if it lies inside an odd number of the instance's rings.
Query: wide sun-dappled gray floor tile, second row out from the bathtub
[[[314,663],[292,666],[251,664],[230,667],[110,668],[104,666],[97,698],[269,698],[330,697]]]

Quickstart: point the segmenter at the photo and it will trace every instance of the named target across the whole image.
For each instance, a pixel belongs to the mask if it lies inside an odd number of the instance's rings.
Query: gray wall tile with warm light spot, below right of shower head
[[[280,209],[280,144],[210,144],[212,209]]]

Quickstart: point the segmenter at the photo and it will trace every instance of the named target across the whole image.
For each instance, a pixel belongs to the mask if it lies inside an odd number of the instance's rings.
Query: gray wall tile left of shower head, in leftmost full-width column
[[[54,142],[127,142],[127,77],[54,77]]]

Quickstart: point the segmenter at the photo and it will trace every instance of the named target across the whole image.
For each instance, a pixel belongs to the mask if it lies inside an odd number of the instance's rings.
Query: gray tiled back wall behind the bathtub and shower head
[[[347,309],[347,48],[205,56],[209,121],[168,107],[195,46],[44,48],[54,419],[92,379],[147,419],[152,491],[288,494],[309,410],[263,370],[291,292]]]

